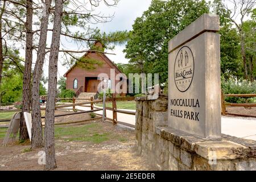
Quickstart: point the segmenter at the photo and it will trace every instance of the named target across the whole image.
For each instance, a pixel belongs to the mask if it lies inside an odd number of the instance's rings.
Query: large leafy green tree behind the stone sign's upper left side
[[[133,24],[131,39],[124,50],[129,63],[139,68],[139,73],[159,73],[160,82],[166,82],[168,41],[208,12],[205,1],[153,0]]]

